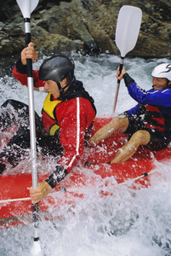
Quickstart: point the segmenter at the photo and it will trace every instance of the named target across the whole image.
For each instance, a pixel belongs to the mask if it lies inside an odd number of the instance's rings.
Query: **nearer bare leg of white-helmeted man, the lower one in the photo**
[[[148,131],[140,130],[134,132],[128,143],[120,148],[111,163],[121,163],[127,161],[134,155],[140,145],[146,145],[150,142],[151,135]]]

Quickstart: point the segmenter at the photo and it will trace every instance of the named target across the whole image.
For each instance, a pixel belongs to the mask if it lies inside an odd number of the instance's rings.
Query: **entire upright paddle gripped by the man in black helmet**
[[[31,12],[37,7],[38,0],[16,0],[21,13],[25,20],[25,34],[26,47],[31,42]],[[34,95],[33,95],[33,76],[32,76],[32,60],[26,60],[27,66],[27,84],[29,96],[29,118],[30,118],[30,141],[31,141],[31,169],[32,169],[32,188],[37,188],[37,150],[36,150],[36,125],[35,125],[35,111],[34,111]],[[33,226],[34,226],[34,243],[31,248],[31,255],[40,256],[41,247],[37,227],[39,224],[38,204],[33,205],[32,212]]]

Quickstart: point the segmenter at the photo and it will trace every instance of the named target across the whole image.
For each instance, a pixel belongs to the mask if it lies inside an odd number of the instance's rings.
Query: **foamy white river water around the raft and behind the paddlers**
[[[73,55],[76,77],[94,97],[98,115],[111,115],[117,87],[115,77],[120,62],[115,55],[83,57]],[[126,58],[124,65],[140,87],[151,88],[151,70],[167,59]],[[169,61],[168,61],[169,62]],[[42,61],[34,64],[38,68]],[[28,102],[27,89],[11,77],[0,79],[0,104],[9,98]],[[43,93],[35,93],[35,108],[41,113]],[[120,85],[117,113],[133,107],[124,83]],[[162,177],[153,177],[148,189],[119,189],[115,195],[100,198],[90,188],[74,208],[51,207],[53,221],[40,221],[40,241],[46,256],[168,256],[171,255],[171,170],[170,162],[158,164]],[[60,218],[57,218],[60,215]],[[0,230],[1,256],[27,256],[32,246],[28,222]]]

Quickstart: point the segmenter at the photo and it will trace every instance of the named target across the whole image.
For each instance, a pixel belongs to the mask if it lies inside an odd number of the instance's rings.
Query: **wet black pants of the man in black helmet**
[[[7,130],[12,125],[18,130],[11,137],[9,143],[0,152],[0,159],[7,160],[12,166],[16,166],[21,159],[30,155],[30,122],[29,107],[14,100],[4,102],[0,109],[0,132]],[[37,151],[41,154],[50,154],[55,157],[62,155],[62,147],[58,136],[49,136],[43,129],[41,118],[35,112]]]

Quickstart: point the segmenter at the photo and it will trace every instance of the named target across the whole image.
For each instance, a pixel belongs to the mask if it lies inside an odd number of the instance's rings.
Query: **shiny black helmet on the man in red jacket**
[[[66,77],[74,77],[74,62],[65,55],[55,55],[44,61],[39,69],[40,80],[53,80],[60,83]]]

